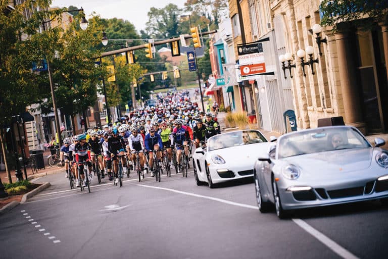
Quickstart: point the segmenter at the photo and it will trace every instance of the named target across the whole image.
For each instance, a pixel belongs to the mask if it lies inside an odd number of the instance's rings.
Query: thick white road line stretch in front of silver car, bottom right
[[[356,255],[346,250],[344,247],[338,245],[333,240],[307,224],[305,221],[301,219],[293,219],[295,224],[297,224],[299,227],[304,229],[307,233],[318,239],[320,242],[322,242],[324,245],[326,245],[328,248],[330,248],[333,252],[340,255],[341,257],[345,259],[359,259]]]

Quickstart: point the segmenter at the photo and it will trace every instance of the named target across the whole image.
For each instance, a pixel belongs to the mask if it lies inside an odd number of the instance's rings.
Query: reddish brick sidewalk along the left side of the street
[[[54,174],[54,173],[58,173],[61,171],[65,172],[64,167],[57,167],[57,166],[51,167],[51,166],[49,166],[49,164],[47,164],[47,156],[49,156],[50,154],[51,154],[50,149],[44,150],[44,152],[43,152],[43,160],[44,160],[45,169],[39,169],[37,173],[33,174],[31,171],[31,168],[29,166],[26,166],[28,179],[41,177],[41,176],[45,176],[48,174]],[[21,168],[21,172],[23,174],[23,179],[25,179],[24,167]],[[0,178],[2,179],[3,183],[9,183],[6,171],[0,171]],[[12,178],[12,182],[17,181],[17,178],[15,176],[15,170],[11,170],[11,178]]]

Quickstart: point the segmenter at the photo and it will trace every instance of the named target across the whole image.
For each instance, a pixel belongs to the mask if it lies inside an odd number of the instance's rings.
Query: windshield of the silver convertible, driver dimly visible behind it
[[[354,128],[331,127],[285,135],[278,140],[278,158],[288,158],[339,149],[371,147]]]

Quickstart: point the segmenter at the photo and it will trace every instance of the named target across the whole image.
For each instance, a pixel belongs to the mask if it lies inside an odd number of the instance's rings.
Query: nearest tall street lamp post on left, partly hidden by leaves
[[[81,7],[81,9],[78,9],[78,10],[71,10],[71,11],[64,11],[64,12],[74,12],[74,11],[83,12],[83,8]],[[63,13],[64,13],[64,12],[63,12]],[[42,22],[43,31],[45,31],[45,26],[44,26],[44,24],[45,24],[45,23],[50,23],[50,22],[53,21],[54,19],[55,19],[55,18],[51,19],[50,21],[43,21],[43,22]],[[81,27],[81,29],[82,29],[82,30],[86,30],[87,25],[88,25],[88,22],[87,22],[87,20],[85,19],[85,17],[83,16],[82,19],[81,19],[81,22],[80,22],[80,27]],[[47,64],[47,73],[49,73],[51,98],[53,99],[53,109],[54,109],[55,127],[57,128],[58,142],[59,142],[58,144],[59,144],[59,146],[61,146],[61,145],[62,145],[61,127],[60,127],[60,124],[59,124],[59,116],[58,116],[58,110],[57,110],[57,101],[56,101],[56,99],[55,99],[53,74],[52,74],[52,72],[51,72],[50,59],[49,59],[49,56],[47,55],[46,52],[45,52],[45,58],[46,58],[46,64]]]

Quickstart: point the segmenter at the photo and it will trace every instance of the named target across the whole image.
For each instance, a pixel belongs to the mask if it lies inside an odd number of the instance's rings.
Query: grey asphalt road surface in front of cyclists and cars
[[[254,184],[210,189],[187,178],[134,174],[91,193],[52,186],[0,217],[0,258],[387,258],[388,209],[378,201],[260,214]],[[30,218],[27,218],[30,217]],[[302,227],[301,227],[302,226]],[[308,232],[309,231],[309,232]],[[49,233],[49,234],[47,234]],[[313,235],[311,234],[313,233]],[[325,238],[322,238],[324,235]],[[320,241],[322,240],[322,241]]]

